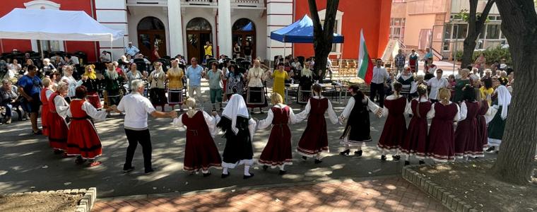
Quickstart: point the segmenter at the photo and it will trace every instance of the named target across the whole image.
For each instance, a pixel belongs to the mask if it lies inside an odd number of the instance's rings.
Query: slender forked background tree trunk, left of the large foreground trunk
[[[495,0],[488,0],[485,8],[483,8],[483,12],[478,13],[479,0],[469,1],[470,10],[468,11],[466,20],[468,21],[468,35],[466,35],[466,39],[464,39],[463,43],[461,68],[465,68],[469,64],[472,64],[473,49],[476,49],[477,45],[476,40],[478,39],[479,34],[483,32],[490,8],[492,8],[492,5],[495,3]]]

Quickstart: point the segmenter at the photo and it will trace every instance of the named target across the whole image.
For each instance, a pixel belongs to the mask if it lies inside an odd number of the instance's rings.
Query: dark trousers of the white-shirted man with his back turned
[[[129,141],[129,146],[126,148],[126,159],[123,165],[123,170],[127,170],[132,167],[132,158],[134,158],[134,152],[138,143],[142,146],[143,153],[143,167],[146,172],[153,170],[151,168],[151,135],[149,129],[144,130],[132,130],[125,129],[126,139]]]

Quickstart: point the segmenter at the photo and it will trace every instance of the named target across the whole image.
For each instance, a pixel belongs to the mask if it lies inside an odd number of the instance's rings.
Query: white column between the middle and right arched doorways
[[[220,54],[232,56],[231,39],[230,1],[218,1],[218,47]],[[213,54],[216,54],[216,52]]]

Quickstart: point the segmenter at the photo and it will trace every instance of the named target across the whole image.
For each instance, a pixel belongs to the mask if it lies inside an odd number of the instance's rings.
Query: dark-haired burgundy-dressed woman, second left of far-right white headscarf
[[[455,131],[455,155],[457,158],[483,157],[483,143],[478,140],[479,102],[476,100],[476,90],[467,85],[463,88],[461,102],[461,121]]]

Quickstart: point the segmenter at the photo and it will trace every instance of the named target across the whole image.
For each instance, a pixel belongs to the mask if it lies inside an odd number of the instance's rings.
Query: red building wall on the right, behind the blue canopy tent
[[[297,0],[295,4],[295,21],[305,14],[311,17],[306,0]],[[326,0],[317,0],[317,9],[321,11],[325,8]],[[389,40],[391,0],[341,0],[338,10],[343,12],[343,59],[358,59],[362,28],[370,57],[382,57]],[[314,55],[312,44],[295,44],[293,51],[295,55],[305,57]]]

